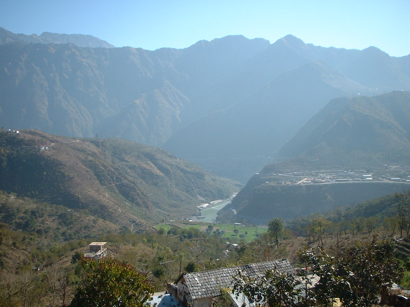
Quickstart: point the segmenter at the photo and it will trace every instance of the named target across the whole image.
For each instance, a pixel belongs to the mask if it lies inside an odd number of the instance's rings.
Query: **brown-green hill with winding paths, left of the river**
[[[118,225],[187,217],[239,189],[161,149],[121,139],[0,132],[0,190]]]

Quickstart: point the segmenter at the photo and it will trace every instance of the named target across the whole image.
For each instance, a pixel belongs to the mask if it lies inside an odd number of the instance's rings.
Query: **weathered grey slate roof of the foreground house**
[[[207,298],[211,296],[218,296],[221,287],[233,287],[232,276],[240,269],[246,272],[246,275],[252,278],[262,277],[266,271],[276,269],[282,273],[291,275],[296,274],[295,269],[287,259],[280,259],[268,262],[259,262],[246,264],[243,266],[234,266],[230,268],[221,268],[197,273],[184,273],[175,283],[178,283],[184,278],[188,287],[189,295],[192,299]]]

